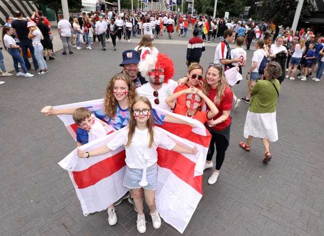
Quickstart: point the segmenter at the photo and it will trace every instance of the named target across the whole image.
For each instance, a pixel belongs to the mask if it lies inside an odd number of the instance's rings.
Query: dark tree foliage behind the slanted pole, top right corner
[[[259,13],[265,21],[275,25],[292,26],[297,4],[296,0],[262,0]],[[300,18],[310,16],[314,10],[314,0],[304,0]]]

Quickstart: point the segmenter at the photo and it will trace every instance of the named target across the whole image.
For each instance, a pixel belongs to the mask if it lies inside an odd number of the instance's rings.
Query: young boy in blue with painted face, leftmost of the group
[[[99,120],[88,108],[77,108],[72,117],[78,126],[76,130],[77,147],[106,135],[104,126],[108,126],[108,124]]]

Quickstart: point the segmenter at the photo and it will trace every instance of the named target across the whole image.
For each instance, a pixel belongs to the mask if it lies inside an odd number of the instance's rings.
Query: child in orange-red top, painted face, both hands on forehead
[[[184,94],[186,95],[186,106],[174,102],[177,97]],[[201,99],[205,100],[206,105],[210,108],[209,111],[201,111]],[[218,113],[215,104],[201,90],[195,87],[171,94],[166,98],[166,102],[174,113],[185,115],[203,124]]]

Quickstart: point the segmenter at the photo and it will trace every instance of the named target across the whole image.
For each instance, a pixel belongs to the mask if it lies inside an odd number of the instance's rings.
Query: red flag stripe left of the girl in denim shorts
[[[123,150],[114,156],[97,162],[88,169],[73,171],[73,178],[78,189],[85,189],[95,185],[102,179],[107,178],[119,169],[123,168],[123,166],[126,165],[125,156],[125,150]]]

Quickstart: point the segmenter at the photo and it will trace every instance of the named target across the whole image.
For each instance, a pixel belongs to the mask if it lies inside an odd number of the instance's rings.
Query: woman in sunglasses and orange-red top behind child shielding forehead
[[[203,71],[204,71],[204,68],[201,65],[199,65],[198,63],[190,64],[190,66],[188,67],[188,72],[187,72],[188,82],[186,82],[184,85],[181,85],[181,86],[179,85],[178,87],[176,87],[176,89],[174,90],[174,93],[180,92],[180,91],[188,89],[190,87],[196,87],[196,88],[200,89],[201,86],[203,85],[203,83],[201,82],[201,80],[204,78]],[[186,97],[187,97],[187,94],[182,94],[182,95],[178,96],[177,104],[185,107],[186,106]]]

